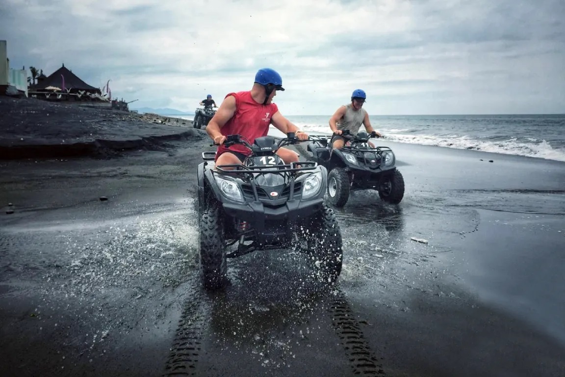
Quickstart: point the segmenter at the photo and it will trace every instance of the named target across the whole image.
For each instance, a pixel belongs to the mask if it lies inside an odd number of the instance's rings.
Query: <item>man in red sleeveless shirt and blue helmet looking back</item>
[[[284,90],[279,73],[271,68],[262,68],[255,75],[250,91],[225,96],[206,127],[214,143],[220,144],[216,151],[216,165],[238,164],[251,154],[243,145],[226,148],[223,143],[227,135],[239,134],[253,144],[255,138],[267,136],[269,125],[272,124],[285,134],[294,132],[299,140],[308,139],[308,135],[282,116],[277,105],[272,103],[277,90]],[[277,154],[287,164],[298,162],[298,154],[288,148],[280,148]]]

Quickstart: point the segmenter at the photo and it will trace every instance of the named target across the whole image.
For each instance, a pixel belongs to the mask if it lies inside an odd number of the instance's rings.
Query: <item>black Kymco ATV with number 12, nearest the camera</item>
[[[272,136],[258,137],[253,145],[230,135],[225,146],[245,145],[252,153],[241,164],[215,168],[208,163],[215,152],[202,153],[199,253],[207,289],[227,283],[227,258],[255,250],[292,248],[312,256],[321,280],[333,283],[340,275],[341,231],[336,215],[323,202],[327,170],[315,162],[285,164],[275,153],[299,141],[292,132],[279,142]]]

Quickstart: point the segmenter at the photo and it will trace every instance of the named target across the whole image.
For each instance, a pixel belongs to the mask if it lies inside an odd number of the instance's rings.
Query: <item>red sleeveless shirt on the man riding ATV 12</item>
[[[253,97],[251,97],[251,92],[229,93],[224,98],[229,96],[236,98],[236,112],[234,112],[232,118],[224,124],[224,127],[220,128],[221,135],[228,136],[239,134],[247,138],[250,144],[253,144],[257,137],[267,136],[269,124],[271,124],[271,117],[279,111],[277,105],[275,105],[275,103],[268,105],[257,103]],[[236,151],[247,156],[251,154],[251,151],[243,145],[236,144],[225,148],[222,144],[218,146],[216,159],[225,151]]]

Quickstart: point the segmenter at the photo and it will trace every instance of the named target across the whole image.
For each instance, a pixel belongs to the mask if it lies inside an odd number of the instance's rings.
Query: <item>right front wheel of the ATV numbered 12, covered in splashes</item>
[[[343,262],[341,230],[333,210],[322,205],[312,215],[308,228],[308,250],[321,280],[333,284],[341,274]]]

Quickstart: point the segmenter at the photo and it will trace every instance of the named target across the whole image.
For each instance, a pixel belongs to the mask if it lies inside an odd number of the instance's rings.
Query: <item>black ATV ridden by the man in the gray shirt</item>
[[[328,169],[328,197],[335,207],[343,207],[349,194],[356,190],[379,191],[381,200],[398,204],[404,197],[404,179],[395,166],[392,149],[386,146],[373,148],[369,144],[373,132],[361,131],[357,136],[349,130],[341,134],[346,139],[341,149],[332,149],[332,136],[310,136],[308,144],[312,153],[309,161],[317,162]]]

